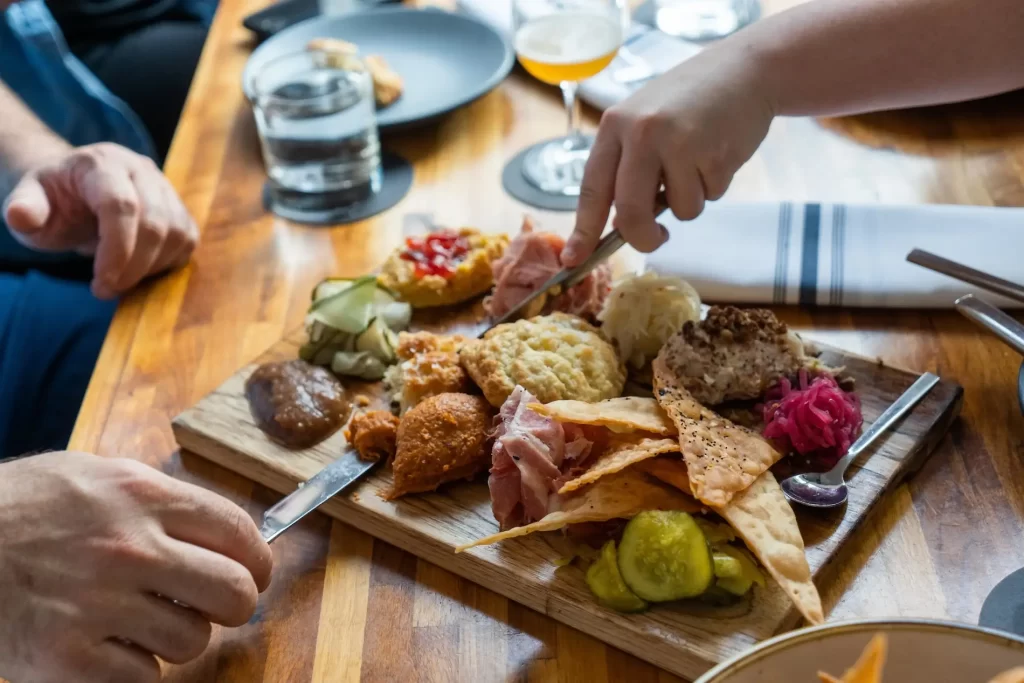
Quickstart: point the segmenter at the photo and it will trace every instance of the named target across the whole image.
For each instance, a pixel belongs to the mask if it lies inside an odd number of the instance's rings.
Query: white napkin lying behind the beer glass
[[[512,0],[459,0],[459,9],[495,27],[511,38]],[[580,98],[598,110],[626,99],[645,80],[625,80],[649,71],[663,74],[700,51],[700,46],[674,38],[643,24],[633,24],[614,61],[594,78],[580,84]]]

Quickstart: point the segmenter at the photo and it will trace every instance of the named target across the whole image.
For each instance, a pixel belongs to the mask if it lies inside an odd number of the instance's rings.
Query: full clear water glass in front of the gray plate
[[[306,51],[269,61],[252,85],[263,160],[278,188],[330,195],[339,203],[380,189],[381,148],[369,73]]]

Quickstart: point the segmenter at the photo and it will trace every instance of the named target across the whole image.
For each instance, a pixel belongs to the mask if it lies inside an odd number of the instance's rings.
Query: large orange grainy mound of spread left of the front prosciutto
[[[482,396],[442,393],[412,409],[398,425],[398,447],[387,498],[434,490],[490,466],[494,410]]]

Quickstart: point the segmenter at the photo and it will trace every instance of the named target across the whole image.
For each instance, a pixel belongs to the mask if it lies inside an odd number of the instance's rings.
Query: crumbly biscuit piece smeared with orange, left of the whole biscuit
[[[459,348],[466,341],[461,335],[442,336],[430,332],[403,332],[398,335],[397,355],[384,378],[398,414],[420,401],[440,393],[466,393],[473,384],[459,361]]]

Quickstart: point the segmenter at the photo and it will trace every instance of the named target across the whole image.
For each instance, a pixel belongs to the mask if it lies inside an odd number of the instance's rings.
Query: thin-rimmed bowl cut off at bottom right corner
[[[889,638],[883,683],[988,683],[1024,666],[1024,639],[966,624],[924,620],[827,624],[766,640],[696,683],[818,683],[857,660],[876,633]]]

